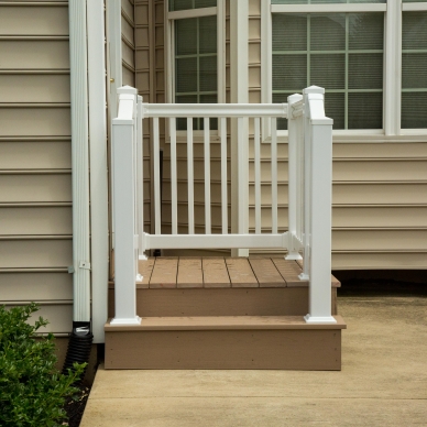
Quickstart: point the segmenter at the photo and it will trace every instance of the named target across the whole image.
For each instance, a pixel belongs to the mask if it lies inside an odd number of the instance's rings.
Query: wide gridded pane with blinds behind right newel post
[[[333,129],[382,129],[383,33],[383,13],[274,13],[273,102],[321,86]]]

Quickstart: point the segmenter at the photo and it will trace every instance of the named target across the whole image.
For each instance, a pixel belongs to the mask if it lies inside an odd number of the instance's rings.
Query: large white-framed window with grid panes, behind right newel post
[[[263,102],[317,85],[342,134],[427,128],[427,2],[265,1],[262,36]]]

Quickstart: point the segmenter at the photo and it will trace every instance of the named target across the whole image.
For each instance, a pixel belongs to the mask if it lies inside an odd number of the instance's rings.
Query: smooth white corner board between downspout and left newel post
[[[87,2],[90,231],[94,342],[105,342],[108,316],[108,171],[103,0]]]

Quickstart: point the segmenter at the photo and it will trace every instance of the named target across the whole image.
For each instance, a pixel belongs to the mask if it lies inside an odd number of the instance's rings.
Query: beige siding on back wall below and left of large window
[[[249,99],[261,100],[261,1],[250,0]],[[426,269],[427,267],[427,143],[333,143],[332,267]],[[251,147],[251,158],[253,156]],[[263,144],[262,157],[269,160]],[[280,211],[287,210],[287,146],[278,147]],[[250,180],[252,179],[250,167]],[[262,165],[263,228],[271,227],[269,204],[270,167]],[[253,186],[250,204],[254,201]],[[264,216],[265,211],[265,216]],[[250,227],[254,229],[253,209]],[[280,227],[287,220],[281,217]]]

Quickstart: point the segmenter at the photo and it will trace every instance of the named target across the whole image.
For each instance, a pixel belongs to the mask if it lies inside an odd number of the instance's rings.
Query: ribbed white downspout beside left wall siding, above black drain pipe
[[[86,0],[69,0],[68,19],[73,167],[73,320],[90,321]]]

